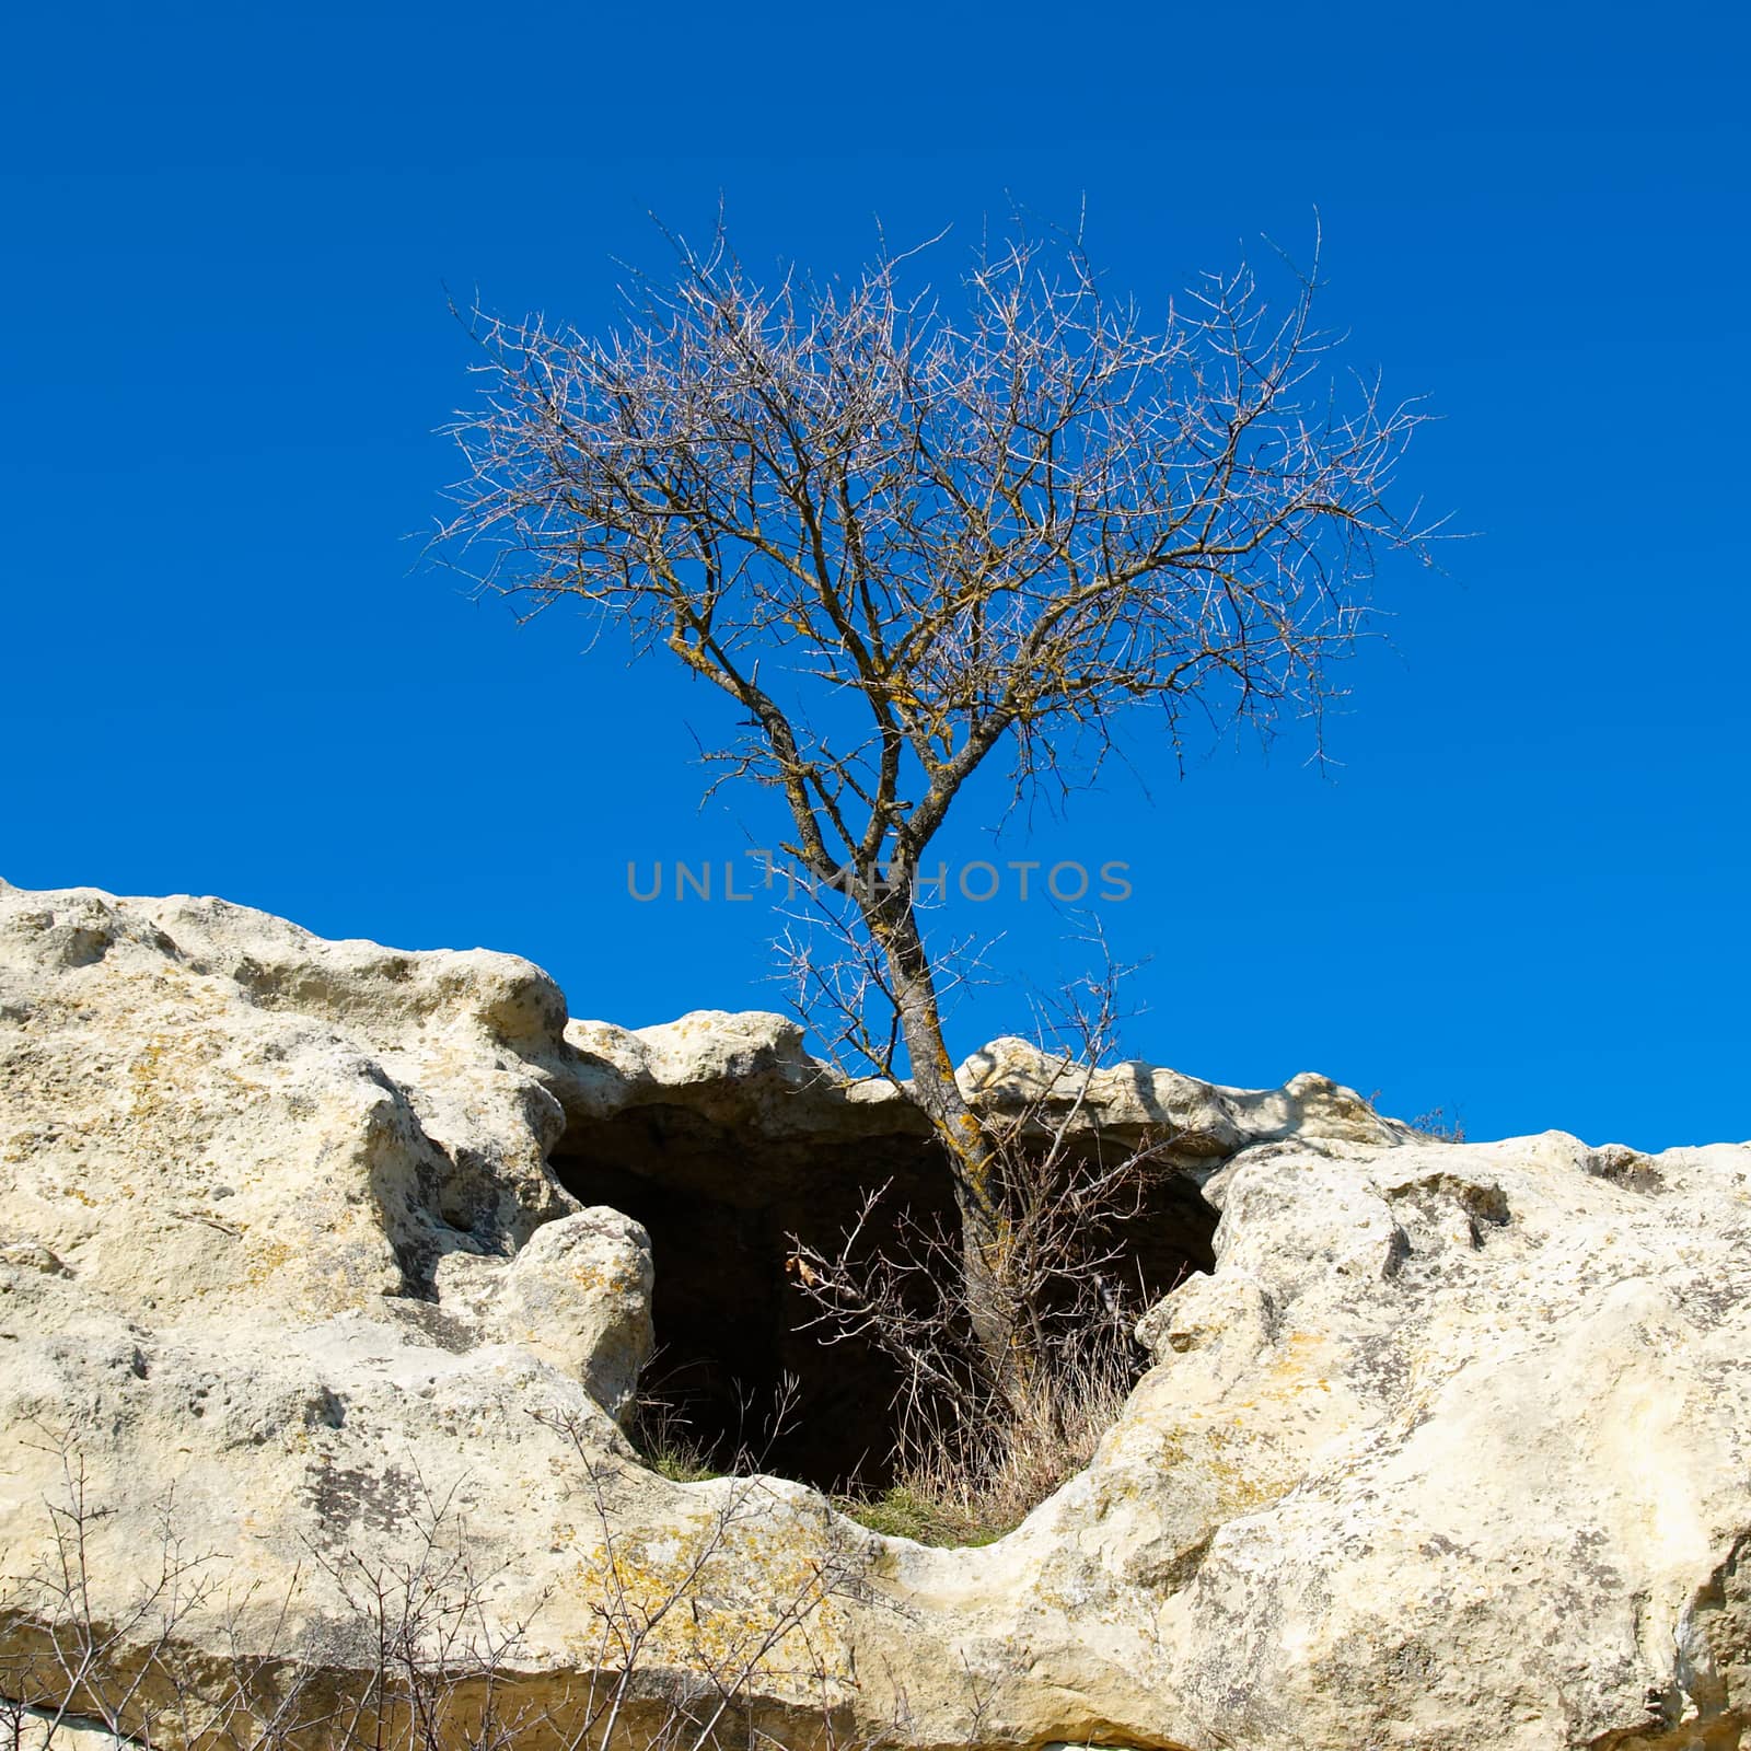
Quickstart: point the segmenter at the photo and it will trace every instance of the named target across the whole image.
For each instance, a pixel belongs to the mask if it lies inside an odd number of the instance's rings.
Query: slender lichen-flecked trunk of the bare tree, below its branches
[[[954,1061],[942,1038],[937,981],[909,891],[904,886],[890,890],[870,902],[863,916],[888,963],[918,1105],[942,1140],[954,1175],[961,1268],[974,1336],[998,1392],[1014,1399],[1028,1369],[1024,1357],[1017,1354],[1021,1329],[1009,1285],[1009,1224],[996,1152],[954,1080]]]

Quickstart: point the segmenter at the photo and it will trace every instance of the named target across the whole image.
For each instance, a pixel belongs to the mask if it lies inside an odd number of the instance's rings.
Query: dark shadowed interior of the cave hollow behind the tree
[[[790,1234],[832,1252],[867,1191],[953,1224],[953,1192],[926,1135],[763,1136],[693,1107],[636,1107],[574,1122],[553,1152],[566,1189],[643,1222],[657,1264],[651,1392],[718,1464],[737,1448],[816,1488],[891,1481],[893,1364],[861,1343],[797,1331],[809,1303],[784,1271]],[[1187,1175],[1164,1173],[1126,1224],[1128,1271],[1149,1299],[1213,1266],[1217,1213]],[[876,1236],[877,1243],[883,1236]],[[769,1424],[783,1378],[788,1427]]]

